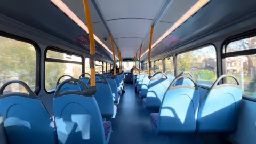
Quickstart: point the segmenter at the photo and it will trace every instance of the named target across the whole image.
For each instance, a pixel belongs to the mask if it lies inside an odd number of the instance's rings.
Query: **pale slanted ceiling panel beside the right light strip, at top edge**
[[[164,13],[161,21],[175,22],[183,14],[185,14],[190,7],[192,7],[198,0],[172,0],[169,9]]]

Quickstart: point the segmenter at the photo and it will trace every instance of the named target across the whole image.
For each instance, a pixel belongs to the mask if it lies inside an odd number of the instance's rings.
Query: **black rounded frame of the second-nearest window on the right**
[[[190,52],[190,51],[195,51],[195,50],[199,50],[199,49],[203,49],[204,47],[207,47],[209,45],[212,45],[215,49],[215,52],[216,52],[216,71],[217,71],[217,79],[218,79],[219,78],[219,73],[218,73],[218,71],[219,71],[218,51],[217,51],[217,47],[213,43],[207,43],[207,44],[204,44],[204,45],[201,45],[201,46],[194,47],[194,48],[189,49],[187,51],[182,51],[182,52],[176,53],[175,56],[174,56],[174,59],[173,59],[173,61],[174,61],[174,74],[177,75],[177,76],[179,75],[178,74],[178,64],[177,64],[177,57],[178,57],[179,54]],[[207,90],[211,89],[211,86],[206,86],[206,85],[202,85],[202,84],[197,84],[197,85],[198,85],[198,87],[201,87],[203,89],[207,89]]]

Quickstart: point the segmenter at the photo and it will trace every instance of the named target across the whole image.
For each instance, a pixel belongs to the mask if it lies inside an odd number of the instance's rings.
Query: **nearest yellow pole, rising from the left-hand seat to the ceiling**
[[[88,27],[88,31],[89,31],[89,39],[90,39],[91,86],[95,86],[95,67],[94,67],[95,43],[94,43],[92,20],[91,20],[91,14],[90,14],[90,6],[89,6],[88,0],[83,0],[83,2],[84,2],[84,12],[85,12],[85,17],[86,17],[86,21],[87,21],[87,27]]]

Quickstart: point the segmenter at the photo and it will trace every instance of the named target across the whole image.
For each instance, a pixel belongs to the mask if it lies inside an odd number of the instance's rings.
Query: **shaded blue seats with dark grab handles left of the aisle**
[[[82,74],[85,75],[85,74]],[[116,77],[97,75],[97,91],[92,92],[90,78],[58,79],[50,115],[42,101],[22,81],[10,81],[0,89],[0,116],[7,141],[12,143],[108,143],[124,74]],[[87,74],[90,76],[90,74]],[[60,83],[62,77],[68,76]],[[6,86],[19,83],[25,93],[4,94]],[[118,89],[118,86],[119,89]],[[116,103],[114,105],[114,103]]]

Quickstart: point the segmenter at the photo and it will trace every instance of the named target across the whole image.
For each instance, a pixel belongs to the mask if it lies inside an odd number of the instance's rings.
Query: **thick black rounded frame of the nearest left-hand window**
[[[6,38],[10,38],[13,39],[15,41],[20,41],[20,42],[24,42],[24,43],[28,43],[34,46],[35,48],[35,53],[36,53],[36,74],[35,74],[35,91],[34,93],[36,95],[39,94],[40,89],[41,89],[41,49],[40,46],[38,45],[38,43],[36,43],[35,41],[28,39],[28,38],[24,38],[18,35],[13,35],[13,34],[9,34],[6,33],[4,31],[0,31],[0,36],[2,37],[6,37]]]

